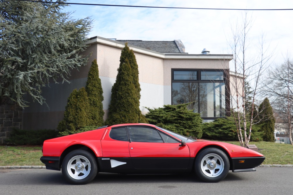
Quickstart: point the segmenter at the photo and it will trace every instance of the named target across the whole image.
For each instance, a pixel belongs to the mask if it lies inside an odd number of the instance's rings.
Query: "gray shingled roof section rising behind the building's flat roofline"
[[[181,53],[175,40],[174,41],[142,41],[142,40],[116,40],[128,42],[129,45],[142,47],[160,53]],[[184,46],[183,46],[184,47]]]

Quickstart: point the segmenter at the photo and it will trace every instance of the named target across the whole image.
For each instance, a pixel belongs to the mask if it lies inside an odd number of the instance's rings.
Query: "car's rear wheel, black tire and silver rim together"
[[[73,150],[62,162],[62,174],[71,184],[87,184],[98,173],[96,158],[86,150]]]

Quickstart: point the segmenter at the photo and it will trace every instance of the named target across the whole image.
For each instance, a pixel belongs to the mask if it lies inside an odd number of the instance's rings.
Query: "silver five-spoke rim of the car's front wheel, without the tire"
[[[217,154],[207,154],[202,158],[200,168],[207,177],[218,177],[224,171],[224,161]]]

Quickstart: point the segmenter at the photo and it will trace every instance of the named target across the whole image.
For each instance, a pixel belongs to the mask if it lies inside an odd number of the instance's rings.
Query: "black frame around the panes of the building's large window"
[[[197,79],[196,80],[174,80],[174,71],[197,71]],[[201,72],[223,72],[223,80],[201,80]],[[224,118],[230,116],[230,82],[229,82],[229,69],[171,69],[171,104],[173,105],[173,83],[182,83],[182,82],[190,82],[190,83],[225,83],[225,114],[223,117],[202,117],[202,119],[206,120],[214,120],[217,118]],[[199,84],[198,84],[199,85]],[[198,90],[200,90],[198,88]],[[197,92],[198,96],[200,96],[199,91]],[[198,100],[200,97],[198,97]],[[198,103],[198,113],[200,113],[200,102]]]

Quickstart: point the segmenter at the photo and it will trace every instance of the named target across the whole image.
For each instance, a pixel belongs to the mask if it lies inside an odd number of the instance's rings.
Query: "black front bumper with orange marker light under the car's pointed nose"
[[[255,171],[255,167],[261,165],[265,157],[232,158],[232,172]]]

